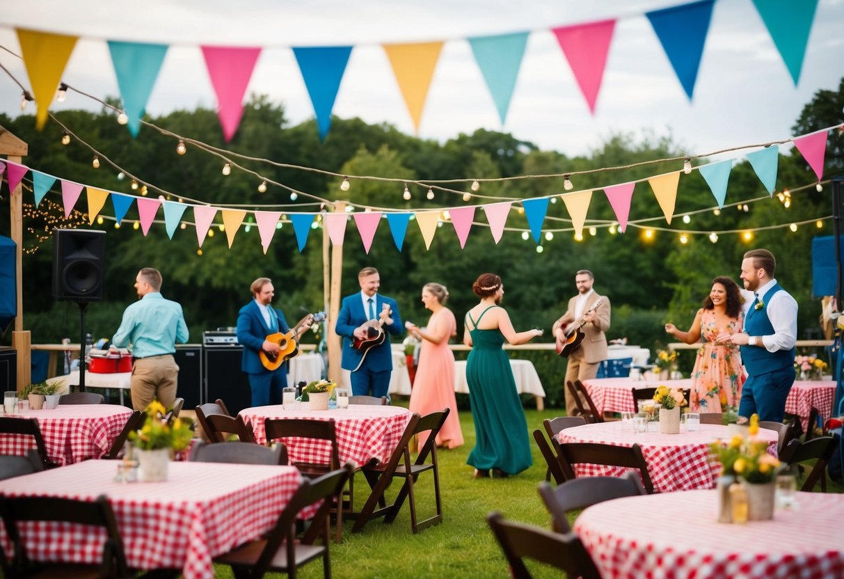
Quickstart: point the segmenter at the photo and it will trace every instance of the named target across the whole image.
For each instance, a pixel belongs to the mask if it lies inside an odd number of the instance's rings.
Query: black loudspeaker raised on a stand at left
[[[102,300],[105,261],[105,231],[53,230],[53,297]]]

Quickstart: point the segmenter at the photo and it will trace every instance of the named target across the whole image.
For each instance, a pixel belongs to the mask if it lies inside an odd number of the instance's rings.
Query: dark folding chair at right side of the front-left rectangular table
[[[346,481],[354,465],[346,463],[331,473],[318,479],[302,481],[299,490],[290,499],[278,521],[265,538],[241,544],[225,555],[214,558],[215,563],[230,565],[235,577],[258,578],[269,572],[287,573],[296,576],[296,569],[301,565],[322,557],[322,572],[326,579],[331,577],[331,562],[328,558],[330,535],[328,515],[332,497],[343,492]],[[308,533],[296,542],[294,528],[296,515],[304,507],[322,501],[317,514],[311,522]],[[322,544],[315,544],[317,539]]]

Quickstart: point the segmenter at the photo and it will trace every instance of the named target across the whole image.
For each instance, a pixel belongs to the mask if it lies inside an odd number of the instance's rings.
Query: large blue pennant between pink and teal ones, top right
[[[689,100],[695,92],[714,3],[703,0],[645,13]]]

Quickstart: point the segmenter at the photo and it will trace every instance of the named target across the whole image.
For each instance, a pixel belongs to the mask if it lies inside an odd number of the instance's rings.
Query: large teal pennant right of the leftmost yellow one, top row
[[[141,117],[153,91],[155,79],[167,54],[163,44],[108,41],[111,63],[117,76],[117,86],[123,99],[123,110],[129,117],[127,127],[133,137],[138,136]]]

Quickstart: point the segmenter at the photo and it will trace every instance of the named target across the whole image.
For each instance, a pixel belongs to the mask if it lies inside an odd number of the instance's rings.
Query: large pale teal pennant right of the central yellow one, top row
[[[475,36],[468,39],[475,61],[478,62],[486,86],[492,94],[492,100],[495,101],[502,125],[507,116],[507,109],[510,108],[513,89],[516,88],[516,78],[522,66],[525,45],[527,45],[527,34],[527,32],[515,32],[506,35]]]

